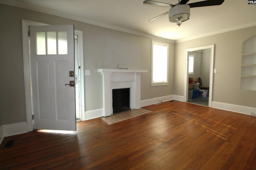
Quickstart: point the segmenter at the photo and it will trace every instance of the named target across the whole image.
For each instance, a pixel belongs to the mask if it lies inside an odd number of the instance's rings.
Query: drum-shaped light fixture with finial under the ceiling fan
[[[187,4],[180,4],[172,7],[169,10],[169,21],[177,22],[177,25],[181,25],[183,21],[188,20],[190,17],[190,6]]]

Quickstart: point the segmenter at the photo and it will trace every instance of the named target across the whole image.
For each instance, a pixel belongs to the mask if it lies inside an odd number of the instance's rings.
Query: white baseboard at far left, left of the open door
[[[28,133],[27,122],[2,125],[4,137]]]

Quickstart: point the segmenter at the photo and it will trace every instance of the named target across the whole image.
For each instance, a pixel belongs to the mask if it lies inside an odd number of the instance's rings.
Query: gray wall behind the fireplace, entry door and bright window
[[[22,19],[51,25],[72,24],[83,31],[86,111],[102,108],[102,75],[98,68],[148,70],[141,76],[141,100],[173,94],[174,44],[169,49],[169,85],[151,86],[151,38],[124,33],[80,21],[0,4],[0,118],[1,124],[26,121]]]

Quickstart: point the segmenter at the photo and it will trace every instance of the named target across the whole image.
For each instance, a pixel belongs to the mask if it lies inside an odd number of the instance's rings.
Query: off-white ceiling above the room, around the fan
[[[139,35],[152,35],[173,42],[187,41],[216,33],[256,25],[256,4],[248,0],[225,0],[220,6],[190,8],[190,19],[176,23],[168,15],[148,21],[169,10],[168,7],[143,4],[144,0],[0,0],[48,14],[92,23]],[[176,4],[178,0],[157,0]],[[202,0],[190,0],[198,2]]]

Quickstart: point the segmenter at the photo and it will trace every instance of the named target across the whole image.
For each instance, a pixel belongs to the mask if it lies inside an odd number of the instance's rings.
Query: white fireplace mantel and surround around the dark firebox
[[[103,115],[113,114],[112,90],[118,88],[130,88],[130,107],[140,109],[140,76],[148,70],[122,70],[100,68],[103,87]]]

